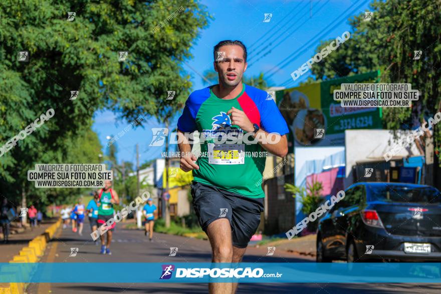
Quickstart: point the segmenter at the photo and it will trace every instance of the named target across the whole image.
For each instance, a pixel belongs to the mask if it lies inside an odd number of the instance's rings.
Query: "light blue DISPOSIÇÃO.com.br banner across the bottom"
[[[75,272],[75,274],[72,274]],[[0,282],[439,283],[441,263],[0,263]]]

